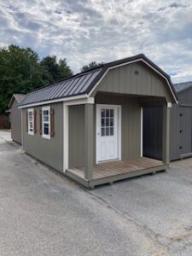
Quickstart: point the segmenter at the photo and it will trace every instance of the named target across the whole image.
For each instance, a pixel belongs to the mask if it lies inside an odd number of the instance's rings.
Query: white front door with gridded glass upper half
[[[96,162],[118,159],[118,107],[96,107]]]

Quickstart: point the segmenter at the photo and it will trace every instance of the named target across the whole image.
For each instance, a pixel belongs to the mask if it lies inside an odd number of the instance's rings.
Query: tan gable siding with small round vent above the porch
[[[136,71],[138,74],[135,73]],[[172,102],[171,92],[167,86],[166,80],[162,79],[159,74],[142,62],[137,62],[109,70],[92,95],[95,96],[97,91],[102,91],[140,96],[162,96],[167,102]]]

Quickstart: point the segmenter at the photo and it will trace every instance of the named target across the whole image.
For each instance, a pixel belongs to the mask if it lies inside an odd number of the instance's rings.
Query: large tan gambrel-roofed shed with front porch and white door
[[[86,187],[166,170],[170,77],[145,55],[103,64],[27,94],[23,149]],[[162,160],[143,157],[143,108],[162,107]]]

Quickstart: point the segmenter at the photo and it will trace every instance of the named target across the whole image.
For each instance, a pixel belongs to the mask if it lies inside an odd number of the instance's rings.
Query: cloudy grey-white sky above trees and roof
[[[192,0],[1,0],[0,47],[9,44],[65,57],[74,73],[143,53],[173,82],[192,80]]]

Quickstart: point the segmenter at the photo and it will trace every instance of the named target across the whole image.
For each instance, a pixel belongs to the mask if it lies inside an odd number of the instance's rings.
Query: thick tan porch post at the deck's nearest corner
[[[94,104],[84,105],[84,178],[92,180],[94,161]]]

